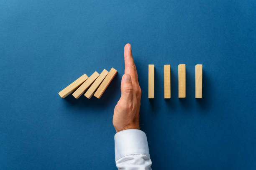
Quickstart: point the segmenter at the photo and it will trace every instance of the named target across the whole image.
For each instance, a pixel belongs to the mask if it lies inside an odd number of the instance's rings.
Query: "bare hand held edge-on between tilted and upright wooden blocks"
[[[121,97],[114,109],[113,125],[116,132],[140,129],[141,87],[133,61],[131,45],[124,48],[125,74],[121,82]]]

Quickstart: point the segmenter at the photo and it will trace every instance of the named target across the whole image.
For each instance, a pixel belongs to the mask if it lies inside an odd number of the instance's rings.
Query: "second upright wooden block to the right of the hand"
[[[171,66],[164,65],[164,99],[171,98]]]

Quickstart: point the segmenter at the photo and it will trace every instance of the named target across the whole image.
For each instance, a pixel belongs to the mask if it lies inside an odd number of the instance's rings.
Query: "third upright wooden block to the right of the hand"
[[[186,64],[179,64],[179,98],[186,97]]]

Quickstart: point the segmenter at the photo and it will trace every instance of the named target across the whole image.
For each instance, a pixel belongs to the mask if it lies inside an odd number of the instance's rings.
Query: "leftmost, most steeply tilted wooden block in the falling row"
[[[88,76],[86,74],[79,77],[77,80],[75,80],[72,84],[69,84],[65,89],[61,90],[59,92],[59,96],[62,98],[67,97],[69,94],[71,94],[75,89],[77,89],[84,81],[88,79]]]

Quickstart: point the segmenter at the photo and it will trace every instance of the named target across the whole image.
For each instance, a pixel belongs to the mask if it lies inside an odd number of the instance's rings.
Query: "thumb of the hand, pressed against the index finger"
[[[124,74],[121,82],[121,98],[131,101],[133,97],[133,86],[130,74]]]

